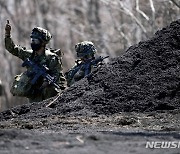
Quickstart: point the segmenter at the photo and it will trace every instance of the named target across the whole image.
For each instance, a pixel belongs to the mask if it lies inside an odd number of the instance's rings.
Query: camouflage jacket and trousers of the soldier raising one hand
[[[49,69],[49,74],[56,79],[56,83],[60,85],[61,89],[65,89],[66,79],[62,73],[62,62],[58,55],[51,52],[49,49],[45,49],[44,54],[38,55],[33,50],[27,50],[24,47],[14,44],[10,35],[5,35],[5,47],[14,56],[19,57],[23,61],[26,58],[31,58],[32,61],[40,65],[46,65]],[[33,55],[33,56],[32,56]],[[27,68],[27,71],[31,71],[31,68]],[[15,78],[17,78],[16,76]],[[40,78],[35,85],[33,85],[31,92],[28,96],[30,102],[39,102],[50,97],[57,95],[59,92],[53,85],[48,85],[43,89],[39,88],[43,84],[43,78]]]

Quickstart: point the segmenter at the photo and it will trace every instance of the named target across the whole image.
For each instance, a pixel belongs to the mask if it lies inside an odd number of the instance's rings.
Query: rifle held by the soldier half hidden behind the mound
[[[69,72],[66,72],[66,78],[70,78],[72,79],[74,77],[74,75],[80,70],[83,69],[84,70],[84,76],[87,76],[88,74],[91,73],[91,66],[92,65],[97,65],[99,62],[102,62],[104,59],[108,58],[109,56],[106,57],[101,57],[99,56],[96,59],[90,59],[85,63],[80,63],[78,64],[73,70],[70,70]]]

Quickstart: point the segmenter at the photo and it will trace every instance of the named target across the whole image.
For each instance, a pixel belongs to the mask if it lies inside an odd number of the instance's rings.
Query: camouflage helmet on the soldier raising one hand
[[[41,41],[44,41],[46,44],[52,38],[50,32],[46,29],[41,28],[41,27],[33,28],[30,37],[40,39]]]

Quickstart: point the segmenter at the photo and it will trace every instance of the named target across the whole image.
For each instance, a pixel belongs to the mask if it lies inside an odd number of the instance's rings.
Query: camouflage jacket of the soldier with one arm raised
[[[5,37],[5,47],[11,54],[19,57],[23,61],[26,60],[26,58],[30,58],[33,53],[32,50],[27,50],[24,47],[14,44],[11,37]],[[40,56],[35,54],[32,60],[38,61],[40,65],[46,65],[49,69],[49,74],[56,79],[57,84],[61,87],[66,87],[66,79],[62,72],[62,62],[59,56],[49,49],[46,49],[45,54]],[[29,69],[30,68],[27,68],[27,71]]]

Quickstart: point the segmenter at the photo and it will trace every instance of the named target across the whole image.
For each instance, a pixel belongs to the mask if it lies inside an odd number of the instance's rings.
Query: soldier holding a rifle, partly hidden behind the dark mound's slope
[[[94,44],[90,41],[76,44],[75,51],[79,59],[75,61],[75,66],[65,73],[68,86],[71,86],[74,82],[79,81],[90,74],[104,59],[102,57],[95,59],[94,54],[97,50]]]

